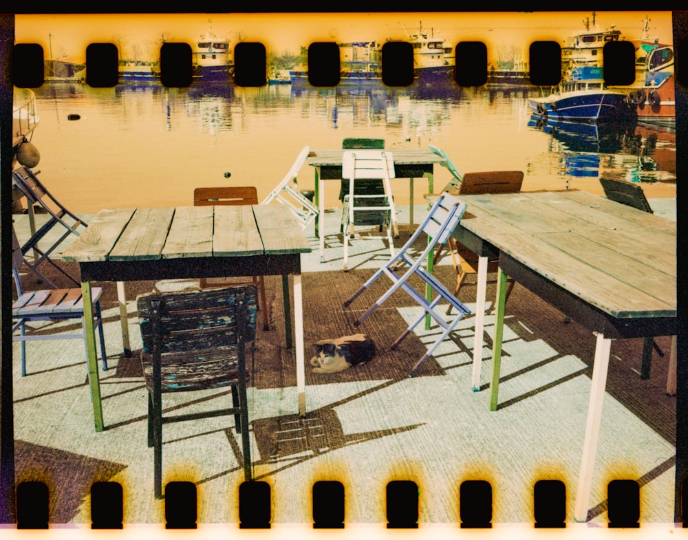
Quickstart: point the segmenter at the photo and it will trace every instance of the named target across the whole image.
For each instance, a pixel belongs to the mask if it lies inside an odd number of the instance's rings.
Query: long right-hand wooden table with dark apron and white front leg
[[[675,335],[676,222],[584,191],[460,196],[454,236],[480,255],[476,314],[484,312],[488,256],[499,256],[491,410],[497,409],[506,277],[596,335],[592,391],[574,519],[585,521],[614,338]],[[481,271],[482,270],[482,271]],[[479,281],[480,284],[480,281]],[[482,299],[480,298],[482,294]],[[482,310],[482,311],[481,311]],[[482,327],[475,332],[473,387]],[[675,347],[672,347],[675,355]],[[672,358],[672,363],[676,358]],[[479,385],[479,383],[478,383]]]

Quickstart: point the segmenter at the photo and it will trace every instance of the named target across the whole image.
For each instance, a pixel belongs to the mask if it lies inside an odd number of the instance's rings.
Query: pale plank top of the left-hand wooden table
[[[287,206],[178,206],[101,210],[63,259],[88,263],[310,251]]]

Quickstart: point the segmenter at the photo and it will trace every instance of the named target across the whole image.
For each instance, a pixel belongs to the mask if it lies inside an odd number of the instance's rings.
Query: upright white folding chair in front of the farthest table
[[[349,269],[349,241],[354,235],[356,214],[361,211],[380,210],[389,213],[390,216],[396,213],[394,199],[391,195],[389,179],[394,178],[394,158],[391,152],[384,150],[347,150],[344,152],[342,161],[342,178],[349,181],[349,193],[345,196],[345,201],[349,201],[349,211],[344,227],[344,270]],[[385,186],[383,195],[356,195],[356,182],[359,178],[365,180],[381,180]],[[375,206],[367,204],[374,200]],[[380,202],[382,199],[382,202]],[[360,201],[360,202],[359,202]],[[384,223],[383,223],[384,224]],[[392,239],[391,219],[385,224],[387,230],[387,244],[391,257],[394,257],[394,240]],[[379,238],[378,236],[358,235],[359,239]]]

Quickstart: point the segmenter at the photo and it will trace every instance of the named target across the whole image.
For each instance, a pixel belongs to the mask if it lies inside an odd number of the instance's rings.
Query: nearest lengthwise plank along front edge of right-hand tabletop
[[[542,235],[547,236],[547,235]],[[661,301],[592,268],[542,238],[505,232],[491,244],[583,301],[619,318],[676,316],[673,301]]]

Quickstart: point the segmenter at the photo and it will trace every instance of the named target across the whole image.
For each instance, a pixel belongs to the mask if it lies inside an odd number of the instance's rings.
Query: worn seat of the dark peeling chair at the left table
[[[163,353],[160,355],[162,391],[208,390],[235,385],[239,380],[236,345]],[[142,351],[146,387],[153,391],[153,354]]]

